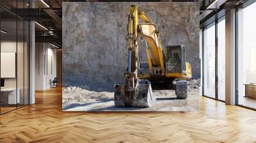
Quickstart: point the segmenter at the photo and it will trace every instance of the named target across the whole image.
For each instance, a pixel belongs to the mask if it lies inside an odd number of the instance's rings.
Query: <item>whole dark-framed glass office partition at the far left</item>
[[[0,4],[14,10],[28,8],[29,1],[1,1]],[[3,8],[0,12],[0,112],[3,114],[29,103],[29,22]]]

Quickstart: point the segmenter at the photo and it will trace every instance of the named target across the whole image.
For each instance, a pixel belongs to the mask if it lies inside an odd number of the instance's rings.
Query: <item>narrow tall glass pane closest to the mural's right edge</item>
[[[204,95],[215,98],[215,25],[204,29]]]

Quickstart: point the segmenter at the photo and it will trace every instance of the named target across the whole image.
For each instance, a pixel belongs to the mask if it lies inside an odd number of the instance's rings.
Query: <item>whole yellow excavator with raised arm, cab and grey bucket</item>
[[[139,23],[139,17],[143,22]],[[138,40],[146,42],[147,63],[140,63]],[[166,47],[163,52],[159,30],[148,16],[138,10],[137,4],[129,8],[127,24],[128,67],[125,83],[115,84],[116,107],[150,107],[156,100],[151,82],[170,81],[178,99],[188,96],[187,79],[191,78],[191,65],[186,61],[184,45]]]

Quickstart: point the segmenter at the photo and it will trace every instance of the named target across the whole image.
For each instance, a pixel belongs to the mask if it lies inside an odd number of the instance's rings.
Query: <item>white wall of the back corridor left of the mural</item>
[[[56,77],[56,49],[49,43],[36,43],[35,47],[35,89],[49,89],[50,80]]]

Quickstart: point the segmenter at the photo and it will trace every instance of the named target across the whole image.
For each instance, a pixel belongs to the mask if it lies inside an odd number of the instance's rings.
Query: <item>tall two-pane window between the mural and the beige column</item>
[[[224,102],[225,15],[205,27],[203,34],[203,94],[204,96]]]

